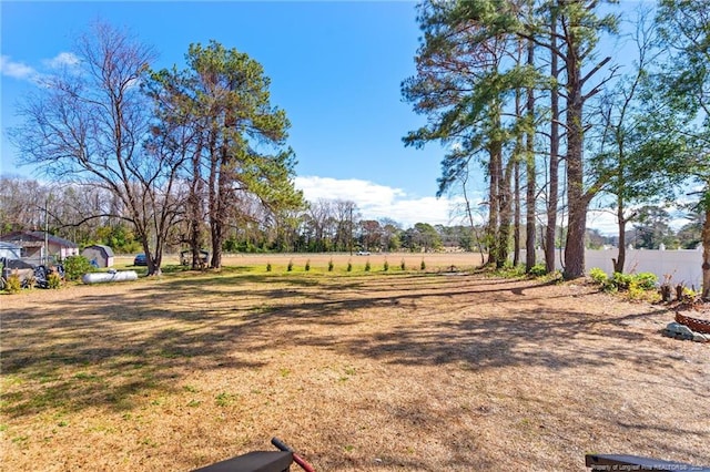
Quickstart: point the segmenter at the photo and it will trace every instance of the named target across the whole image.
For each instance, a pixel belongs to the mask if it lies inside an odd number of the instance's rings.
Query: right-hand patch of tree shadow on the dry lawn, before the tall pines
[[[579,319],[579,314],[574,311],[547,310],[545,318],[539,315],[531,309],[505,318],[406,324],[369,339],[325,338],[311,342],[406,366],[463,363],[471,370],[518,366],[564,370],[631,360],[646,369],[667,367],[667,360],[659,357],[657,349],[647,349],[647,342],[638,334],[625,328],[602,326],[598,319]],[[598,341],[599,348],[579,345],[580,338],[592,345]],[[609,345],[609,339],[615,342]]]

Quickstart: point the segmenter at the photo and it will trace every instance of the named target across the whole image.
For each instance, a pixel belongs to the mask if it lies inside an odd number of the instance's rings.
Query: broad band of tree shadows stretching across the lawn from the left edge
[[[31,312],[7,310],[3,339],[11,340],[2,346],[2,373],[34,387],[14,389],[3,411],[22,415],[50,407],[130,409],[138,394],[174,391],[184,371],[263,367],[252,355],[276,346],[313,346],[384,363],[458,363],[477,370],[562,370],[629,358],[661,368],[658,352],[616,321],[604,325],[572,309],[550,310],[544,305],[550,296],[536,293],[547,284],[523,284],[518,290],[520,281],[515,280],[429,275],[403,274],[386,283],[368,275],[205,275],[136,286],[111,297],[79,295]],[[237,300],[239,296],[244,298]],[[484,296],[484,306],[523,296],[538,307],[503,314],[473,310]],[[417,307],[432,300],[440,316]],[[469,315],[449,317],[469,308]],[[390,310],[404,318],[387,320],[382,328],[363,319],[371,312],[387,317]],[[351,332],[351,327],[366,334]],[[574,342],[582,336],[600,341],[611,337],[618,347],[584,350]]]

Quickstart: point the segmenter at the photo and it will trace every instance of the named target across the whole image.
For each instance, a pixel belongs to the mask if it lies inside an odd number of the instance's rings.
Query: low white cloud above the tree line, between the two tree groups
[[[308,202],[321,198],[355,202],[363,218],[392,218],[405,228],[416,223],[432,225],[459,223],[459,218],[450,216],[458,202],[455,198],[413,196],[400,188],[356,178],[297,176],[295,186],[303,191]]]

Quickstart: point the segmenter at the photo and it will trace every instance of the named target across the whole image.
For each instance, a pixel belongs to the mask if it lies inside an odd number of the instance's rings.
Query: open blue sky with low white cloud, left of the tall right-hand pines
[[[128,28],[160,54],[155,69],[184,66],[190,43],[221,42],[246,52],[271,78],[272,103],[292,122],[296,185],[306,198],[344,198],[364,217],[405,226],[448,224],[437,201],[443,151],[405,148],[424,123],[400,98],[415,72],[419,30],[414,2],[14,2],[2,1],[2,173],[16,167],[6,129],[32,76],[71,50],[101,19]]]

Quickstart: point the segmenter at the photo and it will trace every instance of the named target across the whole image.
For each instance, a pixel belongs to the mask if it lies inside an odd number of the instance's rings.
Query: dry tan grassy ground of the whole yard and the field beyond
[[[273,435],[320,471],[710,465],[710,343],[662,337],[672,310],[362,257],[0,297],[0,470],[187,471]]]

